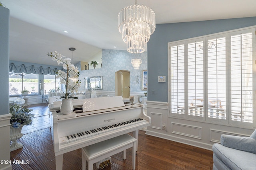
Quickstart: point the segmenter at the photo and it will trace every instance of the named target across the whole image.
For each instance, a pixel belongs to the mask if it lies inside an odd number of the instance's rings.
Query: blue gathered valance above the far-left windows
[[[35,67],[34,65],[31,66],[25,66],[24,64],[21,64],[20,66],[15,65],[14,63],[10,63],[9,65],[9,71],[10,72],[15,72],[15,73],[26,73],[26,74],[50,74],[50,75],[55,75],[55,70],[58,70],[57,68],[43,68],[42,66],[40,67]]]

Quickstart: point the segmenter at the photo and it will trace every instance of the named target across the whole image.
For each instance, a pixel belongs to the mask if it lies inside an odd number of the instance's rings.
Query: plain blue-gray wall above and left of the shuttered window
[[[156,25],[148,42],[148,100],[168,102],[168,42],[253,25],[256,17]],[[166,76],[166,82],[158,82],[158,76]]]

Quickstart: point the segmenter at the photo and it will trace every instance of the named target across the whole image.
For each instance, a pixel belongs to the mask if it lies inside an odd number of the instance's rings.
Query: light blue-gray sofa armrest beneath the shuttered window
[[[256,140],[251,137],[221,135],[221,145],[256,154]]]

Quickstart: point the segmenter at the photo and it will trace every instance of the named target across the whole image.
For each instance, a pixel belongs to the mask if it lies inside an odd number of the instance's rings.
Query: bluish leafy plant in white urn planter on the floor
[[[10,114],[12,115],[10,119],[10,141],[12,141],[12,145],[10,146],[11,151],[23,147],[22,144],[17,143],[17,140],[23,136],[21,133],[22,127],[24,125],[32,124],[32,118],[34,115],[30,113],[31,111],[32,109],[22,107],[18,104],[10,105]]]

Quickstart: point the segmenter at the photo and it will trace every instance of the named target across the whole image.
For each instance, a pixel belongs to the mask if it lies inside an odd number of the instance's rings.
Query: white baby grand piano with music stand
[[[143,105],[124,104],[121,96],[73,100],[74,112],[69,115],[59,111],[60,104],[49,104],[56,170],[62,170],[66,152],[130,132],[138,142],[138,130],[151,123]]]

